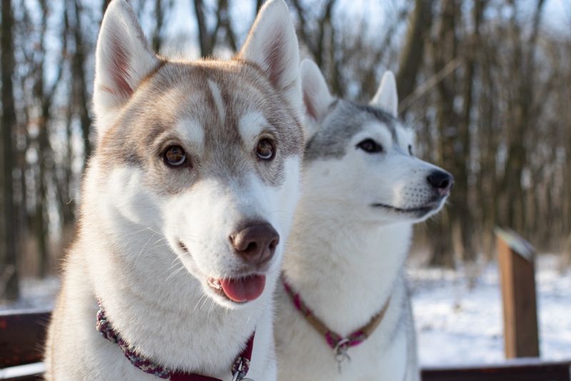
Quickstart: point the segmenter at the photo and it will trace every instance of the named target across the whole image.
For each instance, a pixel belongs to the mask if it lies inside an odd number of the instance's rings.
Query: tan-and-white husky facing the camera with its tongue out
[[[303,154],[298,54],[283,0],[229,61],[158,57],[128,2],[111,2],[48,380],[231,380],[253,332],[246,377],[276,379],[273,291]]]

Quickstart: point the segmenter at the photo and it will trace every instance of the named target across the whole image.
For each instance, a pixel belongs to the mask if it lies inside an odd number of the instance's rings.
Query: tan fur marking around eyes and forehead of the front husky
[[[277,154],[271,162],[258,160],[255,142],[236,145],[243,141],[239,121],[250,112],[260,113],[275,136]],[[188,137],[176,129],[182,119],[201,125],[204,152],[185,144]],[[123,107],[97,153],[105,171],[117,164],[143,168],[149,186],[161,193],[184,192],[202,177],[243,181],[243,175],[252,170],[265,184],[278,186],[284,179],[285,158],[303,153],[302,131],[296,113],[254,64],[161,61]],[[191,169],[165,167],[161,159],[165,139],[181,142],[193,162]]]

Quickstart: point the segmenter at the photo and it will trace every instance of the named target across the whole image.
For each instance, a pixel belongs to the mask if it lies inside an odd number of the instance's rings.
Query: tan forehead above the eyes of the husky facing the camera
[[[253,112],[284,133],[302,137],[298,117],[253,65],[167,62],[137,89],[113,129],[137,129],[139,137],[152,138],[180,127],[183,120],[194,120],[208,139],[208,135],[236,131],[243,114]]]

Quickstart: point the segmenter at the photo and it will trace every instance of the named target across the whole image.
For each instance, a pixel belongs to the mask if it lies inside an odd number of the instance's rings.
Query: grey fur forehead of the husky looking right
[[[318,131],[305,144],[305,160],[339,159],[347,152],[353,137],[369,129],[383,129],[393,142],[398,142],[398,130],[403,129],[403,124],[382,109],[337,100]]]

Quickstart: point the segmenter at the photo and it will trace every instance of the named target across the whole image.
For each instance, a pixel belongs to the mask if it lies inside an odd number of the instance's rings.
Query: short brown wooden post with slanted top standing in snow
[[[535,249],[515,232],[495,229],[502,279],[505,357],[539,357]]]

